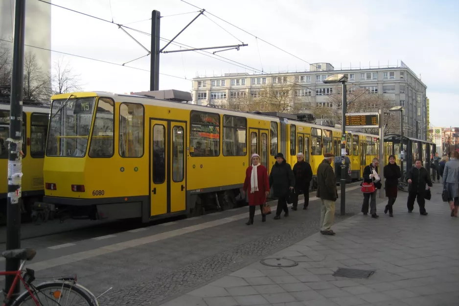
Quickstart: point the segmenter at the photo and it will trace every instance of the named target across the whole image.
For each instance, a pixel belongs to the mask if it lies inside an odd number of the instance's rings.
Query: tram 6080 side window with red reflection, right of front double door
[[[220,155],[220,116],[192,111],[190,114],[190,155]]]

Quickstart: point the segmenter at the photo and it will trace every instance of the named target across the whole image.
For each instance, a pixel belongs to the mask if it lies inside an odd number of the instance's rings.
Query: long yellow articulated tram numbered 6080
[[[52,100],[44,202],[70,215],[148,222],[227,209],[252,153],[270,171],[277,152],[292,166],[303,152],[315,176],[325,152],[340,152],[339,129],[281,116],[103,92]],[[354,179],[377,156],[378,141],[347,134]]]

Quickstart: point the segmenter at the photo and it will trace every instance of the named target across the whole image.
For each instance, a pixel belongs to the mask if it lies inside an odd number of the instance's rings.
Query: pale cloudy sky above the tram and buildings
[[[161,12],[161,37],[171,39],[197,14],[181,0],[53,0],[105,20],[52,7],[53,50],[127,63],[147,52],[116,24],[151,33],[151,11]],[[176,39],[190,47],[249,44],[239,51],[161,54],[160,90],[191,90],[191,79],[228,72],[304,71],[309,63],[340,67],[397,65],[402,60],[427,85],[433,126],[459,126],[459,1],[187,0],[250,34],[205,13]],[[49,5],[42,3],[42,5]],[[191,13],[193,12],[193,13]],[[189,13],[178,16],[170,16]],[[145,21],[146,20],[146,21]],[[216,24],[215,24],[216,23]],[[218,25],[217,25],[218,24]],[[220,27],[220,26],[221,27]],[[222,27],[224,29],[222,29]],[[127,30],[150,49],[150,36]],[[228,33],[228,32],[229,33]],[[256,39],[263,39],[276,47]],[[161,47],[165,43],[161,42]],[[170,45],[166,50],[179,49]],[[149,90],[150,56],[126,64],[142,70],[52,53],[68,61],[84,90]]]

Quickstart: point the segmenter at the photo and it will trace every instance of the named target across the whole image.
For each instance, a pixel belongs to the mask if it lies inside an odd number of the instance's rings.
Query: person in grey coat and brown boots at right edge
[[[451,216],[458,216],[459,209],[459,153],[451,152],[451,160],[446,163],[442,183],[448,194]]]

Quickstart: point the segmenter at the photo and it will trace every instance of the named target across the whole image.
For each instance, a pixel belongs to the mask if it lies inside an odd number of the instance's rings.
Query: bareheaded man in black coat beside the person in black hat
[[[298,209],[298,195],[304,194],[303,210],[308,209],[309,205],[309,183],[312,180],[311,165],[304,161],[303,153],[297,154],[298,163],[293,166],[293,173],[295,174],[295,195],[293,199],[292,210]]]

